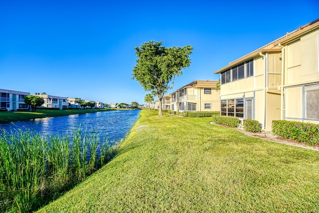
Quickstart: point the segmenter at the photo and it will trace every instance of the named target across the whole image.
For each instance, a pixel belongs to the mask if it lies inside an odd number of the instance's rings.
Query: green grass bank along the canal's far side
[[[31,111],[17,111],[17,112],[3,112],[0,111],[0,123],[8,123],[12,121],[22,121],[34,118],[56,117],[63,115],[85,114],[93,112],[101,112],[111,109],[63,109],[63,110],[49,110],[38,109],[35,112]]]

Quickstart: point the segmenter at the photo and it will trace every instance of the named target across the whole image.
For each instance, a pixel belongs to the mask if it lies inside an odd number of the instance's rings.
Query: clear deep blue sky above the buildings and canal
[[[319,18],[318,0],[0,0],[0,88],[144,103],[134,47],[194,47],[174,88]]]

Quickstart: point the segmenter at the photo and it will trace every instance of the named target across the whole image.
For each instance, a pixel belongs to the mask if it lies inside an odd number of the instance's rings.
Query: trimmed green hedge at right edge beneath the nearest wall
[[[319,124],[274,120],[272,129],[275,135],[284,138],[306,142],[309,145],[319,144]]]

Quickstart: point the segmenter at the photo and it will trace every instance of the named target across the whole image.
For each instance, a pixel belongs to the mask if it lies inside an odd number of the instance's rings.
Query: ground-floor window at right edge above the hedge
[[[319,84],[305,86],[305,116],[308,119],[319,119]]]

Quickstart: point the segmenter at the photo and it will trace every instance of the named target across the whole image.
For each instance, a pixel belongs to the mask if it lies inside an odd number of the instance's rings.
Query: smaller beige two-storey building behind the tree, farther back
[[[163,98],[163,109],[172,111],[219,111],[218,81],[195,80]]]

